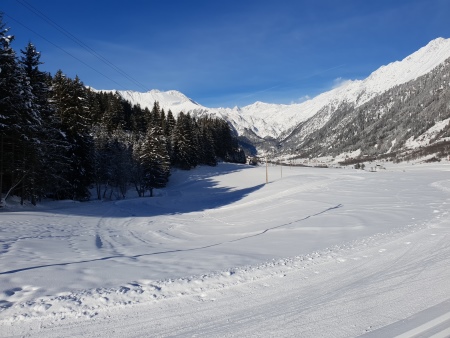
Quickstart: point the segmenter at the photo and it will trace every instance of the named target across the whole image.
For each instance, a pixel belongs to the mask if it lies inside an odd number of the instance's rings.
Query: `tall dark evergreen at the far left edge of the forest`
[[[14,38],[7,32],[0,16],[0,193],[5,192],[6,199],[19,189],[23,203],[30,193],[30,173],[38,158],[41,118],[30,81],[11,48]]]

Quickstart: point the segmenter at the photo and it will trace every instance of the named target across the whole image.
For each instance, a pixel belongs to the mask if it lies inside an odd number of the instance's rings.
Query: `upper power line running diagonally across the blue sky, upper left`
[[[75,42],[77,45],[79,45],[81,48],[83,48],[84,50],[86,50],[88,53],[90,53],[91,55],[93,55],[94,57],[96,57],[98,60],[100,60],[102,63],[104,63],[105,65],[107,65],[108,67],[112,68],[113,70],[115,70],[116,72],[118,72],[120,75],[122,75],[123,77],[127,78],[129,81],[133,82],[135,85],[137,85],[138,87],[142,88],[144,91],[148,91],[148,88],[143,85],[142,83],[140,83],[139,81],[137,81],[136,79],[134,79],[131,75],[129,75],[128,73],[126,73],[124,70],[120,69],[119,67],[117,67],[114,63],[112,63],[111,61],[109,61],[108,59],[106,59],[104,56],[102,56],[101,54],[99,54],[97,51],[95,51],[93,48],[89,47],[87,44],[85,44],[83,41],[81,41],[80,39],[78,39],[75,35],[73,35],[72,33],[70,33],[69,31],[67,31],[66,29],[64,29],[63,27],[61,27],[58,23],[56,23],[54,20],[52,20],[51,18],[49,18],[47,15],[45,15],[44,13],[42,13],[40,10],[38,10],[37,8],[35,8],[34,6],[32,6],[31,4],[29,4],[26,0],[16,0],[19,4],[21,4],[22,6],[24,6],[25,8],[27,8],[29,11],[33,12],[35,15],[39,16],[42,20],[46,21],[48,24],[50,24],[51,26],[53,26],[53,28],[55,28],[56,30],[58,30],[60,33],[64,34],[66,37],[68,37],[69,39],[71,39],[73,42]]]

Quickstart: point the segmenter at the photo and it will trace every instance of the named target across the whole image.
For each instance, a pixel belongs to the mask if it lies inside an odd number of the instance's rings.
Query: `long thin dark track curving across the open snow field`
[[[237,241],[242,241],[244,239],[247,238],[252,238],[252,237],[257,237],[257,236],[261,236],[264,235],[265,233],[274,230],[274,229],[278,229],[281,227],[285,227],[288,225],[292,225],[294,223],[298,223],[298,222],[302,222],[305,221],[311,217],[316,217],[316,216],[320,216],[326,212],[341,208],[342,204],[338,204],[334,207],[330,207],[327,208],[325,210],[322,210],[316,214],[313,215],[308,215],[306,217],[303,217],[301,219],[298,220],[294,220],[294,221],[290,221],[287,223],[283,223],[268,229],[265,229],[261,232],[258,232],[256,234],[252,234],[252,235],[248,235],[248,236],[243,236],[237,239],[233,239],[233,240],[229,240],[229,241],[225,241],[225,242],[218,242],[218,243],[213,243],[213,244],[209,244],[209,245],[204,245],[204,246],[200,246],[200,247],[195,247],[195,248],[190,248],[190,249],[174,249],[174,250],[166,250],[166,251],[159,251],[159,252],[152,252],[152,253],[147,253],[147,254],[139,254],[139,255],[125,255],[125,254],[116,254],[116,255],[111,255],[111,256],[106,256],[106,257],[101,257],[101,258],[94,258],[94,259],[87,259],[87,260],[81,260],[81,261],[76,261],[76,262],[63,262],[63,263],[53,263],[53,264],[43,264],[43,265],[36,265],[36,266],[30,266],[30,267],[26,267],[26,268],[19,268],[19,269],[13,269],[13,270],[9,270],[9,271],[2,271],[0,272],[0,275],[9,275],[9,274],[14,274],[14,273],[18,273],[18,272],[23,272],[23,271],[29,271],[29,270],[36,270],[36,269],[42,269],[42,268],[48,268],[48,267],[55,267],[55,266],[69,266],[69,265],[75,265],[75,264],[83,264],[83,263],[92,263],[92,262],[100,262],[100,261],[106,261],[106,260],[110,260],[110,259],[115,259],[115,258],[131,258],[131,259],[136,259],[139,257],[146,257],[146,256],[156,256],[156,255],[162,255],[162,254],[168,254],[168,253],[177,253],[177,252],[189,252],[189,251],[197,251],[197,250],[203,250],[203,249],[208,249],[208,248],[212,248],[215,246],[219,246],[219,245],[223,245],[223,244],[227,244],[227,243],[233,243],[233,242],[237,242]],[[100,238],[99,235],[96,235],[96,246],[98,249],[103,247],[103,242]]]

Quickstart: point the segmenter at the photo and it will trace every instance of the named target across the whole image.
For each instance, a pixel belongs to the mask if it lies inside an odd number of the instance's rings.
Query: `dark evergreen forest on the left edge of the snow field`
[[[86,200],[139,196],[166,185],[171,167],[245,162],[227,122],[152,110],[39,69],[29,43],[17,55],[0,13],[0,205],[11,195]]]

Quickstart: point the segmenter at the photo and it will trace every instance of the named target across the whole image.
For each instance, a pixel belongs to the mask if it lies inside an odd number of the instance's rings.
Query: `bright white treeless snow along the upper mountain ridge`
[[[300,122],[314,116],[321,109],[328,108],[332,111],[342,102],[360,106],[390,88],[427,74],[449,57],[450,39],[438,38],[402,61],[380,67],[364,80],[345,81],[339,87],[308,101],[290,105],[255,102],[242,108],[207,108],[175,90],[167,92],[151,90],[147,93],[118,92],[132,104],[140,104],[141,107],[151,109],[154,102],[158,101],[162,108],[166,111],[171,109],[175,115],[180,111],[207,112],[228,120],[239,134],[248,129],[262,138],[266,136],[277,138],[292,130]],[[330,116],[328,115],[328,118]],[[315,128],[323,126],[326,122],[327,120],[320,121]]]

